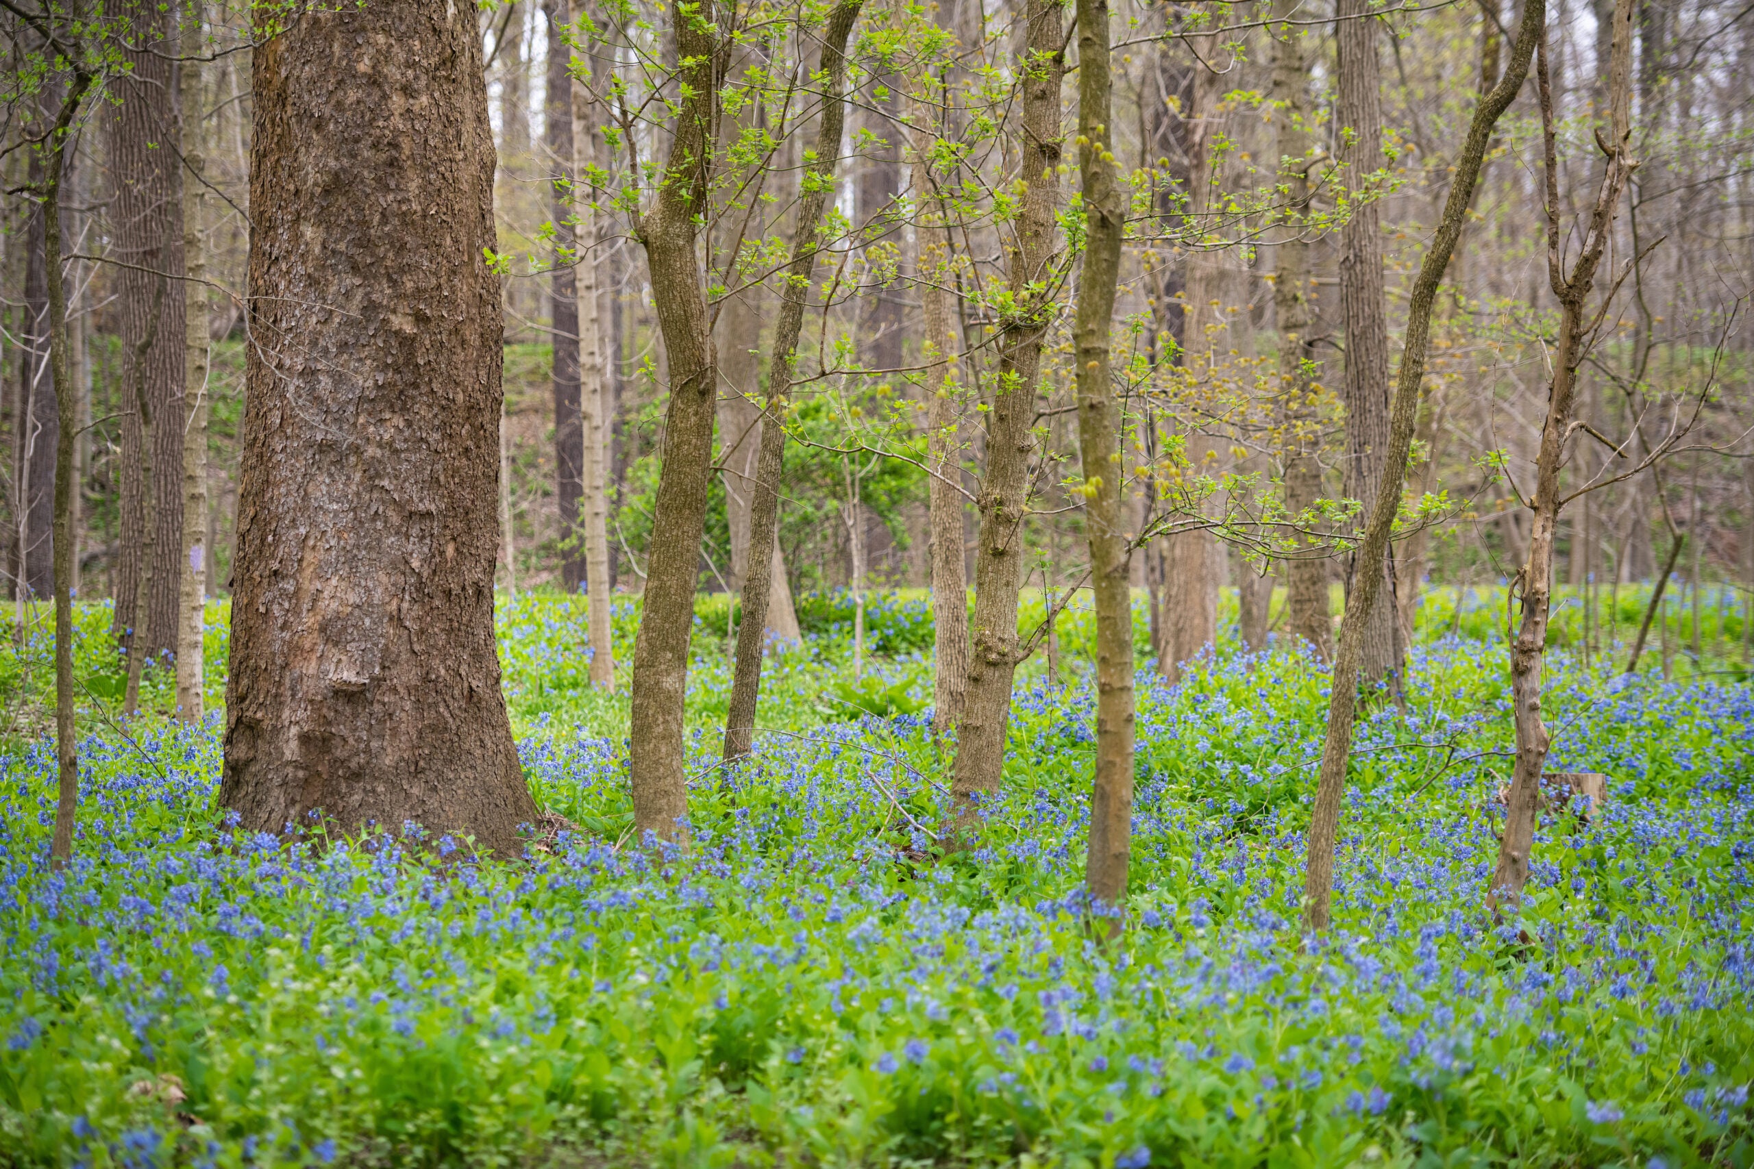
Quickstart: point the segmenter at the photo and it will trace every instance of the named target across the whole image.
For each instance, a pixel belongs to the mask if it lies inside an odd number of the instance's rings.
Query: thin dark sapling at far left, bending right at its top
[[[79,405],[67,368],[67,289],[61,284],[61,175],[67,170],[68,126],[79,112],[91,77],[74,72],[49,133],[42,182],[42,252],[49,286],[49,382],[54,387],[54,754],[58,799],[49,864],[63,868],[74,852],[74,813],[79,810],[79,755],[74,740],[74,433]]]

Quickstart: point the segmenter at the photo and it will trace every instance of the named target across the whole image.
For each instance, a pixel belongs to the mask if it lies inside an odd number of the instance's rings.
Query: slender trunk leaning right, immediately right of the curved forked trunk
[[[768,629],[768,603],[781,594],[784,564],[774,538],[779,521],[779,478],[786,456],[786,403],[791,400],[793,363],[798,331],[803,328],[803,301],[810,293],[810,273],[821,249],[817,231],[823,207],[835,186],[840,137],[845,124],[845,100],[840,88],[847,75],[847,37],[859,18],[863,0],[842,0],[823,30],[823,114],[816,135],[816,165],[800,181],[798,219],[791,238],[791,265],[786,268],[774,324],[774,352],[768,359],[768,396],[761,417],[754,482],[749,491],[749,564],[744,575],[742,626],[737,629],[737,664],[731,675],[731,701],[724,715],[724,761],[742,759],[754,745],[756,701],[761,692],[761,648]],[[752,387],[747,387],[752,389]],[[775,580],[779,575],[779,580]],[[789,605],[791,592],[784,598]],[[793,617],[796,624],[796,617]]]

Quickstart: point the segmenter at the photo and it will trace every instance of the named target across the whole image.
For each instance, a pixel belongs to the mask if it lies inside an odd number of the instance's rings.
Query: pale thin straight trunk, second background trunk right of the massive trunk
[[[579,30],[588,21],[579,19]],[[582,46],[591,54],[588,70],[598,93],[609,91],[607,46],[600,40]],[[579,435],[584,457],[579,461],[582,499],[579,508],[579,535],[584,538],[584,584],[589,594],[591,622],[591,685],[616,689],[616,648],[612,641],[612,605],[609,599],[609,496],[607,447],[603,436],[603,393],[609,389],[609,361],[603,345],[603,298],[598,294],[596,273],[603,263],[602,237],[596,226],[595,188],[584,186],[584,175],[598,161],[598,130],[595,110],[586,100],[584,86],[572,86],[572,174],[574,231],[579,240],[579,270],[574,289],[579,298]]]

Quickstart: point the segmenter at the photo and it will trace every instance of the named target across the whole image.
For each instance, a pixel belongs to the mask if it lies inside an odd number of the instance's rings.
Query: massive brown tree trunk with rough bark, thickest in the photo
[[[256,49],[254,102],[221,801],[263,832],[321,808],[514,854],[535,804],[493,643],[502,317],[474,14],[298,16]]]

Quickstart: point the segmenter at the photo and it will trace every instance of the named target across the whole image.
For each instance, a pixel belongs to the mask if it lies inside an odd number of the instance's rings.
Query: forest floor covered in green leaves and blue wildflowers
[[[551,813],[516,859],[230,827],[223,717],[125,727],[91,605],[75,864],[51,875],[42,638],[0,659],[0,1162],[1754,1164],[1754,691],[1680,631],[1670,680],[1661,641],[1631,678],[1624,647],[1552,652],[1549,766],[1607,773],[1608,799],[1544,818],[1494,924],[1503,596],[1431,598],[1407,708],[1359,722],[1335,927],[1308,946],[1324,668],[1221,645],[1177,687],[1142,670],[1130,911],[1103,948],[1087,613],[1052,684],[1040,654],[1019,675],[984,847],[933,861],[930,606],[873,599],[861,678],[845,599],[800,608],[814,633],[770,659],[766,734],[726,775],[724,608],[702,601],[695,848],[663,857],[626,841],[626,696],[584,685],[579,598],[502,599]],[[147,706],[167,689],[149,671]]]

